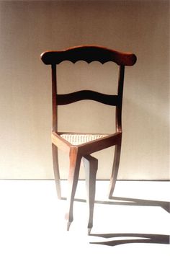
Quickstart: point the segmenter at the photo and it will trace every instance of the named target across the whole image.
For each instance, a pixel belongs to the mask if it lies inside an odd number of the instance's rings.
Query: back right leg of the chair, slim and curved
[[[114,162],[112,167],[112,175],[109,183],[109,194],[108,194],[109,199],[112,198],[112,194],[115,189],[118,169],[120,165],[120,151],[121,151],[121,141],[120,141],[120,144],[115,145],[115,156],[114,156]]]

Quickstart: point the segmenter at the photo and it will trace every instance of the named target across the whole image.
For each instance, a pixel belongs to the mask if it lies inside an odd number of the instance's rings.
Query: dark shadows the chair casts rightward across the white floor
[[[66,200],[66,198],[61,198],[61,199]],[[75,201],[86,202],[86,200],[78,199],[78,198],[75,198]],[[110,201],[95,200],[95,203],[121,205],[121,206],[157,206],[157,207],[159,206],[163,208],[165,211],[170,213],[170,202],[158,201],[158,200],[120,198],[120,197],[113,196]],[[115,246],[118,244],[130,244],[130,243],[169,244],[169,235],[165,235],[165,234],[133,234],[133,233],[127,234],[125,233],[125,234],[90,234],[90,236],[109,239],[109,241],[90,242],[90,244],[103,244],[108,246]],[[121,237],[121,239],[117,240],[117,237]]]

